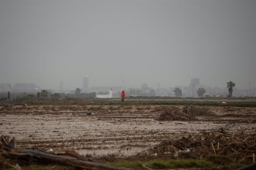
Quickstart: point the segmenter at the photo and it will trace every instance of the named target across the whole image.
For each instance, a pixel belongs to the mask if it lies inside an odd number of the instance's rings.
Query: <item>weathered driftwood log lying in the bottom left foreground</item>
[[[83,157],[74,150],[63,150],[57,152],[43,152],[39,149],[17,149],[15,137],[10,141],[9,136],[1,136],[0,156],[14,159],[36,159],[37,161],[47,161],[51,163],[65,164],[78,169],[86,170],[133,170],[123,167],[112,167],[104,164],[92,162],[91,159]]]

